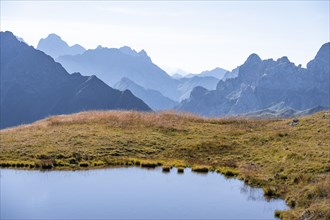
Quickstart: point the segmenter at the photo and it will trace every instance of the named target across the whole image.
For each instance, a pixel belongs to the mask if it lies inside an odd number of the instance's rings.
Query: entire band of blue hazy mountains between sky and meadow
[[[128,46],[85,50],[51,34],[38,44],[45,54],[19,39],[1,32],[1,128],[95,109],[289,117],[330,106],[330,43],[307,68],[287,57],[262,60],[251,54],[232,71],[171,77],[144,50]]]

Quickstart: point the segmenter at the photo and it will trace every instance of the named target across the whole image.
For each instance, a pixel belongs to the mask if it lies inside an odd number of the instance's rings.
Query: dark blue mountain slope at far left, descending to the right
[[[70,75],[45,53],[0,33],[1,128],[49,115],[84,110],[150,108],[130,91],[113,89],[96,76]]]

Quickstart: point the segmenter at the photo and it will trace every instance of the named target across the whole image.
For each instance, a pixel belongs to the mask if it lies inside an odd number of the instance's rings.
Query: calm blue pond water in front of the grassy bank
[[[0,170],[1,219],[274,219],[287,209],[217,173]]]

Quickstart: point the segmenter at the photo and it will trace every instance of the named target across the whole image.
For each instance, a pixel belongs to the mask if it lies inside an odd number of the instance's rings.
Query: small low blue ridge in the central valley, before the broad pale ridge
[[[122,78],[114,85],[118,90],[130,90],[136,97],[142,99],[153,110],[173,109],[178,102],[163,96],[160,92],[152,89],[145,89],[128,78]]]

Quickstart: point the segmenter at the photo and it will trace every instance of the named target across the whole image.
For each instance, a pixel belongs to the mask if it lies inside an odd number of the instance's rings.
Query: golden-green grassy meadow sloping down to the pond
[[[219,172],[292,208],[282,219],[330,219],[330,112],[290,119],[206,119],[95,111],[0,131],[0,165],[24,169],[192,167]]]

